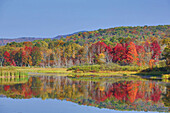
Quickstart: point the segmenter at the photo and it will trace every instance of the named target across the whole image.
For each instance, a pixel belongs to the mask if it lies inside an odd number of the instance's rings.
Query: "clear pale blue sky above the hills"
[[[0,0],[0,38],[170,25],[170,0]]]

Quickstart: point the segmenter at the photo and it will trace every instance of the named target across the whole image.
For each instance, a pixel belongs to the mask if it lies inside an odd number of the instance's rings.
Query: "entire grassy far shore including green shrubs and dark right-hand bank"
[[[63,74],[66,76],[159,76],[169,74],[166,67],[155,67],[152,70],[148,67],[139,66],[120,66],[118,64],[103,65],[83,65],[66,68],[40,68],[40,67],[1,67],[3,72],[29,72],[31,74],[55,75]]]

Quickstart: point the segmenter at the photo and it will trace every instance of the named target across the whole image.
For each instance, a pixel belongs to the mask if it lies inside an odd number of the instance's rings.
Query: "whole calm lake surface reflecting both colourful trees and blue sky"
[[[168,112],[170,85],[134,78],[0,78],[0,113]]]

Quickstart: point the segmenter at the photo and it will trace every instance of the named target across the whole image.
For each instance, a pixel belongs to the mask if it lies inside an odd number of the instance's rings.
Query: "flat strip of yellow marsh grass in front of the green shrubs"
[[[29,75],[58,75],[62,74],[65,76],[125,76],[125,75],[134,75],[137,72],[135,71],[98,71],[98,72],[83,72],[83,71],[77,71],[74,72],[73,70],[68,70],[66,68],[38,68],[38,67],[1,67],[0,70],[3,70],[3,72],[29,72]]]

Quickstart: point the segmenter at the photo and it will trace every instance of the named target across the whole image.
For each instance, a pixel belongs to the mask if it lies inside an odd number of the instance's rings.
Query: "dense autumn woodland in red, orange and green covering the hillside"
[[[170,64],[170,25],[115,27],[78,32],[60,39],[11,42],[0,46],[1,66],[71,67],[117,63]]]

